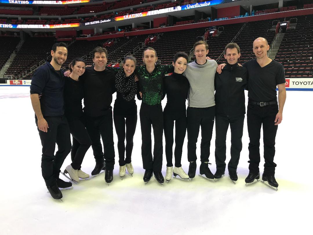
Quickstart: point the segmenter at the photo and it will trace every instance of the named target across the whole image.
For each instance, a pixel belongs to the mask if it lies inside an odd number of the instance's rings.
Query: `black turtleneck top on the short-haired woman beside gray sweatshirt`
[[[188,97],[189,82],[185,76],[173,73],[163,79],[163,99],[167,96],[164,108],[167,112],[186,112],[186,99]]]

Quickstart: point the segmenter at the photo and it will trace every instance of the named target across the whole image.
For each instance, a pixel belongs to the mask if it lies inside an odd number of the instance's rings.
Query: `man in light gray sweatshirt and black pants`
[[[214,77],[218,65],[215,60],[206,59],[209,50],[205,41],[196,42],[193,49],[196,61],[187,64],[184,72],[190,83],[187,107],[188,175],[192,179],[196,174],[196,149],[201,126],[200,175],[214,180],[208,162],[215,117]]]

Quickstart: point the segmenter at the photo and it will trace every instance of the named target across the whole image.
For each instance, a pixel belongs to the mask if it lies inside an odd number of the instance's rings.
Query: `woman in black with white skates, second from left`
[[[64,112],[69,122],[70,133],[73,136],[73,144],[71,149],[72,163],[65,168],[63,174],[68,173],[71,179],[76,182],[80,178],[89,177],[80,169],[85,154],[91,146],[91,139],[85,128],[83,117],[82,99],[84,98],[84,88],[79,79],[85,72],[85,66],[85,60],[75,58],[69,64],[71,74],[69,77],[65,77],[64,84]]]

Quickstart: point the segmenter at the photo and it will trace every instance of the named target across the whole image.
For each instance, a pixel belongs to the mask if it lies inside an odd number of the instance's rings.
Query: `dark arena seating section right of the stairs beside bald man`
[[[284,65],[287,78],[312,76],[308,73],[313,71],[313,15],[297,19],[295,29],[287,29],[275,57]]]

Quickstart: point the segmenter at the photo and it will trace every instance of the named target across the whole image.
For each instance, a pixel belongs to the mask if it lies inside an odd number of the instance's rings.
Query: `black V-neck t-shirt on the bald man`
[[[276,86],[285,83],[284,66],[272,60],[263,68],[256,59],[244,63],[249,73],[249,100],[255,102],[275,101],[277,98]]]

